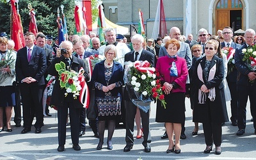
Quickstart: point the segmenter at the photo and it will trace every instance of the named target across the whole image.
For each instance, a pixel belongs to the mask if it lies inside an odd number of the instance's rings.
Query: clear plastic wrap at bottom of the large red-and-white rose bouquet
[[[132,103],[147,113],[150,109],[150,104],[153,101],[152,97],[145,97],[142,93],[134,91],[134,88],[131,84],[126,84],[125,87],[128,92],[129,99],[131,99]]]

